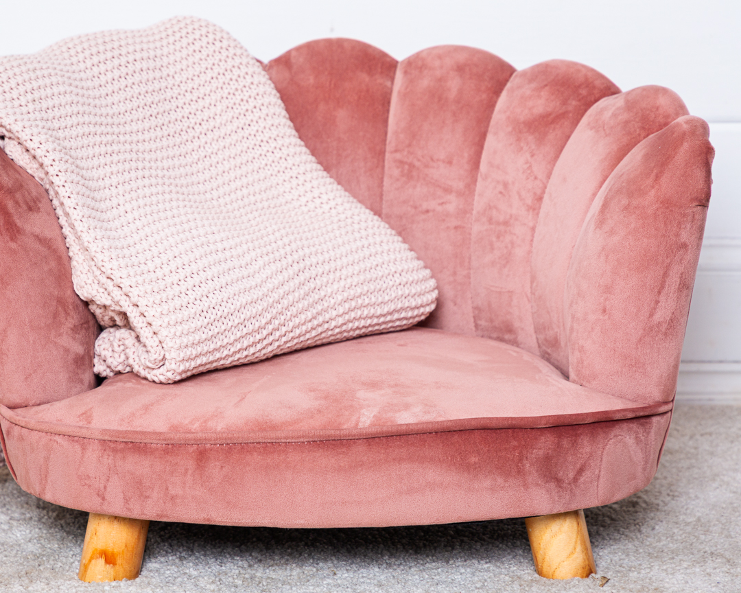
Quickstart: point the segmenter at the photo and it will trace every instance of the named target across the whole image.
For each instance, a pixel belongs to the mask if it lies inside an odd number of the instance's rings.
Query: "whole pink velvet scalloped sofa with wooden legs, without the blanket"
[[[121,578],[119,552],[136,576],[130,548],[147,520],[502,517],[531,517],[541,574],[587,576],[579,509],[644,488],[668,432],[710,197],[708,126],[663,87],[621,92],[561,60],[517,71],[471,47],[396,62],[325,39],[265,67],[319,162],[431,269],[436,310],[406,331],[172,385],[101,384],[99,327],[49,199],[0,151],[0,428],[13,477],[91,513],[86,580]]]

